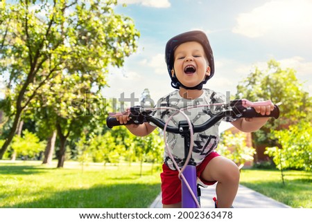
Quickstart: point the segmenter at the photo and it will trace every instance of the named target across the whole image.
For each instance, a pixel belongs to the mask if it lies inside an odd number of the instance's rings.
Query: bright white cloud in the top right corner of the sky
[[[312,1],[277,0],[241,13],[233,33],[246,37],[269,37],[283,40],[312,39]]]

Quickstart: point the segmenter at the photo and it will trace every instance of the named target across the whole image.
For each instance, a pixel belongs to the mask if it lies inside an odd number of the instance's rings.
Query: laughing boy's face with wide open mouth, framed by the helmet
[[[174,54],[174,70],[171,75],[176,75],[184,86],[197,86],[210,75],[210,67],[204,48],[197,41],[187,41],[177,46]]]

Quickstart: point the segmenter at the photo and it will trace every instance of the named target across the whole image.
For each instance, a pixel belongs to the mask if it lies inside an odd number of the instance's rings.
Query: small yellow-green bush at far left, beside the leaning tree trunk
[[[28,156],[33,158],[38,155],[41,151],[44,151],[46,142],[41,141],[35,135],[28,130],[23,131],[24,136],[15,136],[12,140],[11,148],[14,149],[17,156]]]

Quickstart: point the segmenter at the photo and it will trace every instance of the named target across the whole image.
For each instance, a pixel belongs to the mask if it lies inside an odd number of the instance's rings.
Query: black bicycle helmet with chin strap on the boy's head
[[[175,75],[174,76],[171,75],[171,70],[173,69],[175,48],[177,48],[177,46],[180,46],[180,44],[187,41],[197,41],[202,45],[202,47],[205,50],[210,66],[210,75],[206,76],[205,80],[203,80],[200,84],[193,87],[184,86],[182,83],[179,82],[179,80],[177,80],[177,77]],[[171,77],[171,86],[173,86],[173,88],[175,89],[179,89],[180,87],[183,87],[184,89],[202,89],[202,85],[205,84],[207,80],[209,80],[214,75],[214,55],[212,53],[207,35],[200,30],[189,31],[187,33],[182,33],[180,35],[171,38],[166,44],[165,59],[168,68],[168,73],[169,76]]]

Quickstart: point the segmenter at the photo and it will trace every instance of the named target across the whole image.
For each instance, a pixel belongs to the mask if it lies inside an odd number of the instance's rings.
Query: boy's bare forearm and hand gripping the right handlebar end
[[[274,109],[274,104],[270,104],[270,106],[263,107],[254,107],[257,113],[261,113],[261,115],[270,115],[270,112]],[[245,133],[250,133],[253,131],[257,131],[268,121],[268,118],[259,117],[259,118],[241,118],[231,122],[234,127],[243,131]]]

